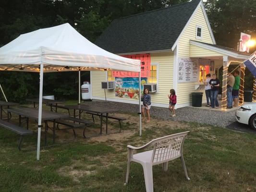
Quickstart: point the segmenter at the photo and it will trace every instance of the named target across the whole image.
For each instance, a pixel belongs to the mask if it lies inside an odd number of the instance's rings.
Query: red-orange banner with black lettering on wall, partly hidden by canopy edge
[[[140,60],[141,77],[150,77],[150,54],[122,55],[129,59]],[[139,77],[138,72],[118,72],[112,71],[112,77]]]

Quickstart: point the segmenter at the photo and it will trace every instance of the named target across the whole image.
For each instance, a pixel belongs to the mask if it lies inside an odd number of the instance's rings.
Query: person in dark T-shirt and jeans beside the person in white
[[[209,81],[211,85],[211,107],[210,108],[219,108],[218,103],[218,94],[219,94],[219,79],[216,74],[212,75],[212,79]]]

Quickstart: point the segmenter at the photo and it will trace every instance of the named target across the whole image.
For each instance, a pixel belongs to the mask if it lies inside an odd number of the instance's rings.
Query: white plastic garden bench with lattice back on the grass
[[[183,169],[187,180],[190,180],[187,174],[187,169],[183,159],[183,144],[189,132],[181,132],[158,139],[154,139],[141,147],[134,147],[127,145],[128,148],[128,161],[127,173],[125,184],[128,183],[130,164],[131,161],[137,162],[142,165],[144,171],[144,178],[146,184],[146,192],[153,192],[153,172],[152,166],[163,164],[163,170],[167,171],[168,161],[174,160],[178,157],[181,158]],[[134,150],[145,149],[149,146],[154,146],[153,150],[145,151],[142,153],[134,154]]]

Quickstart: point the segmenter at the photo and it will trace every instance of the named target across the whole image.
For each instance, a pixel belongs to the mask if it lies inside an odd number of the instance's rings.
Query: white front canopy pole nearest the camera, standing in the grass
[[[39,106],[38,106],[38,132],[37,132],[37,160],[40,157],[40,139],[41,139],[41,126],[42,126],[42,100],[43,100],[43,77],[44,65],[40,64],[40,86],[39,86]]]

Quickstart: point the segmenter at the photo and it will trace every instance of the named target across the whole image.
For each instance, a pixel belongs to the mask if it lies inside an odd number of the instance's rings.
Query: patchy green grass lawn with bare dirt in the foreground
[[[140,146],[188,130],[184,159],[191,180],[185,179],[179,159],[169,163],[167,172],[154,166],[155,192],[256,192],[256,134],[152,118],[138,137],[137,116],[124,115],[128,121],[122,133],[83,139],[78,132],[73,143],[42,149],[40,161],[36,150],[29,150],[36,146],[36,135],[24,137],[19,152],[19,136],[0,128],[0,192],[145,192],[143,169],[136,163],[131,164],[128,185],[123,185],[126,145]],[[118,122],[111,121],[111,127],[117,128]],[[59,133],[58,139],[68,136],[72,132]]]

